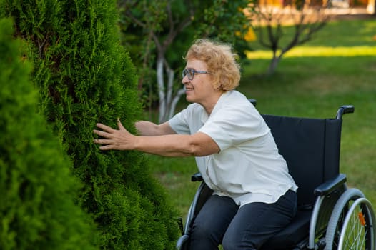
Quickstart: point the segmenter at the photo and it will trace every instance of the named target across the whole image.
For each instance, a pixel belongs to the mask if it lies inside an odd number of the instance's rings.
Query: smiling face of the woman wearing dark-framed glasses
[[[191,70],[191,72],[192,69],[194,69],[194,71],[209,72],[207,64],[197,59],[188,60],[185,69]],[[214,74],[214,72],[209,72],[209,74],[194,73],[192,80],[189,79],[189,74],[184,76],[182,84],[184,84],[185,87],[187,101],[195,102],[202,106],[212,105],[213,101],[214,104],[217,103],[222,92],[214,89],[212,85],[212,74]]]

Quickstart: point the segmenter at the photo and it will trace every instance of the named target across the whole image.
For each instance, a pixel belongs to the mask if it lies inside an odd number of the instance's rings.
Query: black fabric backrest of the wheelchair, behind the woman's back
[[[315,188],[339,174],[342,119],[262,116],[299,187],[298,204],[313,205]]]

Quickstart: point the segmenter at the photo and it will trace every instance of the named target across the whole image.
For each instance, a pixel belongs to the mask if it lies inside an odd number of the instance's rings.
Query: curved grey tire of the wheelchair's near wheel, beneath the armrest
[[[325,234],[325,250],[337,250],[342,226],[345,216],[353,202],[359,198],[364,198],[364,194],[359,189],[347,189],[338,199],[330,215]]]

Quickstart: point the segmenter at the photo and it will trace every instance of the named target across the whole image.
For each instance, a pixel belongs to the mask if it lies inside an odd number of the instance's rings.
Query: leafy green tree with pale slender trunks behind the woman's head
[[[181,78],[176,74],[184,66],[182,56],[194,39],[210,37],[227,41],[244,57],[247,48],[244,34],[250,27],[244,9],[249,8],[249,0],[119,0],[118,3],[124,44],[145,76],[139,80],[139,90],[146,85],[149,91],[158,92],[159,122],[173,116],[184,94]],[[150,73],[152,69],[156,80]],[[150,102],[154,101],[152,96],[148,97]]]

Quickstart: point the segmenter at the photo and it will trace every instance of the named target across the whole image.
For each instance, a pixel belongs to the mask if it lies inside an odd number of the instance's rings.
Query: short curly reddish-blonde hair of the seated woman
[[[229,91],[239,86],[240,66],[232,46],[209,39],[197,39],[188,49],[185,61],[196,59],[204,61],[211,73],[215,89]]]

